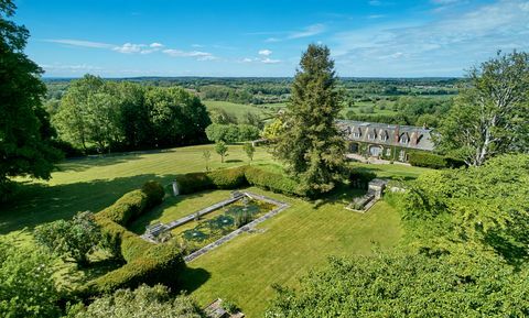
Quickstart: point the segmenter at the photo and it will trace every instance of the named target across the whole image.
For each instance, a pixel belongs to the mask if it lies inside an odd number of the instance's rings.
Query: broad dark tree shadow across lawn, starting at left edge
[[[19,194],[1,206],[0,234],[72,218],[77,211],[98,212],[128,191],[141,188],[148,180],[169,184],[176,175],[143,174],[114,179],[48,186],[21,184]]]

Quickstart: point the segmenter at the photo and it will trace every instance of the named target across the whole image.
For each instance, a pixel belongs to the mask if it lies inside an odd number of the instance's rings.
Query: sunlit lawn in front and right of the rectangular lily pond
[[[235,301],[250,318],[262,317],[274,296],[273,284],[295,286],[300,275],[331,255],[391,249],[401,235],[398,213],[384,201],[360,215],[346,210],[342,198],[316,208],[301,199],[250,190],[291,207],[261,223],[264,232],[245,233],[190,264],[184,286],[201,305],[222,297]]]

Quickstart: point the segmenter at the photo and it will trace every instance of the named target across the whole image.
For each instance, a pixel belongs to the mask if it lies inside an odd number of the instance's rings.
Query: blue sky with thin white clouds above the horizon
[[[525,0],[15,0],[47,77],[293,76],[310,43],[339,76],[462,76],[529,50]]]

